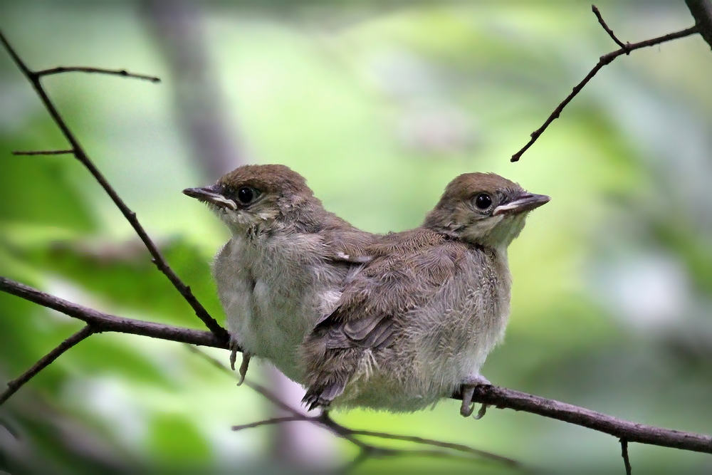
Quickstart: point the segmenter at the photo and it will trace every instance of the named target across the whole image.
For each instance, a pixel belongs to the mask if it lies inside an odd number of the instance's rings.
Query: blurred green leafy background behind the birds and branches
[[[602,1],[623,41],[693,24],[684,1]],[[614,44],[582,1],[2,2],[31,68],[95,66],[44,84],[90,157],[220,321],[209,261],[228,234],[184,197],[246,162],[303,174],[368,231],[417,226],[462,172],[553,199],[510,248],[506,341],[493,383],[624,419],[712,432],[712,52],[684,38],[619,58],[516,164],[509,157]],[[201,328],[130,226],[69,156],[0,53],[1,274],[118,315]],[[0,294],[0,380],[80,328]],[[226,361],[227,353],[211,352]],[[268,367],[250,376],[298,402]],[[263,397],[182,345],[95,335],[0,408],[0,470],[309,471],[355,449],[272,417]],[[491,409],[352,411],[358,429],[470,444],[544,471],[622,473],[616,439]],[[402,447],[402,444],[396,444]],[[712,471],[712,457],[632,444],[634,471]],[[373,471],[507,471],[373,459]]]

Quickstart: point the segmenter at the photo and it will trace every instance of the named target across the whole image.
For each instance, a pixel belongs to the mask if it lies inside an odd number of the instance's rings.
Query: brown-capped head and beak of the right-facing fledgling
[[[452,180],[424,227],[455,239],[506,249],[524,227],[526,215],[549,201],[493,173],[465,173]]]

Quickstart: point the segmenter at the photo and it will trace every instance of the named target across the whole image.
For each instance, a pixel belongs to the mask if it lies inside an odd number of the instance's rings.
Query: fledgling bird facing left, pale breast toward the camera
[[[303,382],[298,349],[341,296],[345,278],[367,261],[372,234],[326,211],[304,177],[284,165],[244,165],[215,184],[183,190],[228,226],[213,276],[231,335],[231,364],[243,350]]]

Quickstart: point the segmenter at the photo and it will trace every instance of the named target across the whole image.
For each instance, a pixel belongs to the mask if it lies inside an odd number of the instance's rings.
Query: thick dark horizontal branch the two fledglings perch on
[[[219,340],[215,335],[201,330],[189,330],[188,328],[177,328],[159,323],[150,323],[131,318],[121,318],[115,315],[79,306],[61,298],[51,296],[48,293],[38,291],[25,286],[9,278],[0,278],[0,291],[11,293],[14,296],[24,298],[28,301],[38,303],[41,306],[53,308],[73,318],[79,318],[90,324],[95,332],[113,331],[118,333],[132,333],[134,335],[144,335],[162,340],[172,340],[193,345],[210,346],[214,348],[227,349],[226,342]],[[216,362],[219,365],[219,363]],[[277,398],[272,399],[264,388],[257,389],[251,383],[253,389],[268,397],[272,402],[278,404],[293,415],[299,414]],[[461,394],[455,394],[453,399],[461,400]],[[712,454],[712,437],[692,432],[681,432],[671,429],[663,429],[636,422],[629,422],[623,419],[595,412],[583,407],[577,407],[565,402],[545,399],[529,395],[525,392],[509,390],[505,387],[492,385],[480,385],[476,387],[473,402],[490,404],[501,409],[514,409],[516,411],[530,412],[550,419],[557,419],[569,424],[603,432],[627,442],[639,442],[641,444],[656,445],[659,447],[672,447],[675,449],[705,452]],[[351,429],[342,427],[345,431]],[[341,432],[340,435],[345,434]]]

